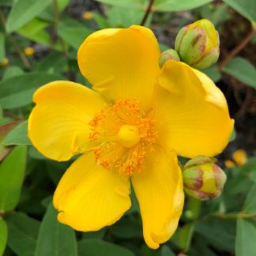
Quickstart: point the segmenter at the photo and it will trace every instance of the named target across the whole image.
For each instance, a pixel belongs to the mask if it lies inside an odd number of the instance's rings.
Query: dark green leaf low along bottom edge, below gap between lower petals
[[[125,247],[99,239],[83,239],[78,242],[79,256],[135,256]]]

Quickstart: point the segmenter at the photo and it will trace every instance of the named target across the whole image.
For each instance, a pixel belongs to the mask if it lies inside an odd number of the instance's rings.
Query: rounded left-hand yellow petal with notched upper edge
[[[28,119],[28,137],[53,160],[69,160],[87,149],[88,122],[106,105],[100,94],[70,81],[44,85],[33,100],[36,107]]]

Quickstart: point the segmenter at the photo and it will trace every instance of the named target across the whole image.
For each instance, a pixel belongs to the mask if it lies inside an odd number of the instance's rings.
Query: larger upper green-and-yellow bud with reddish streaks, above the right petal
[[[198,70],[206,69],[220,55],[219,34],[211,21],[202,19],[183,27],[175,39],[179,58]]]

